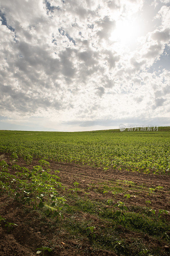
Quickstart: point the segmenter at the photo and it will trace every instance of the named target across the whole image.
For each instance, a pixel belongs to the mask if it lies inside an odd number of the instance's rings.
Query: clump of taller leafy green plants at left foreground
[[[46,214],[53,213],[59,221],[63,218],[61,213],[63,207],[69,207],[67,200],[59,195],[60,189],[64,189],[57,176],[59,171],[51,174],[49,162],[39,160],[39,164],[32,168],[20,167],[14,164],[15,175],[8,172],[8,165],[3,160],[0,162],[0,190],[8,192],[9,196],[15,195],[16,200],[22,200],[24,204],[29,204],[33,209],[46,208]],[[44,170],[45,168],[46,170]]]

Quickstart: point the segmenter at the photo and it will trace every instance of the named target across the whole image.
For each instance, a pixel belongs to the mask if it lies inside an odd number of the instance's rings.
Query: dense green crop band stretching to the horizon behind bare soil
[[[104,170],[169,173],[170,127],[159,127],[158,132],[0,131],[0,151]]]

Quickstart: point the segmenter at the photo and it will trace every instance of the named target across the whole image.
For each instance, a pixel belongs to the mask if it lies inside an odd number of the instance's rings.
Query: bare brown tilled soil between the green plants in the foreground
[[[11,168],[10,159],[6,155],[5,161],[9,164],[9,172],[15,174]],[[50,169],[54,173],[59,170],[57,175],[60,177],[60,182],[67,188],[74,188],[73,183],[79,183],[81,192],[78,196],[84,197],[85,192],[88,192],[89,199],[96,200],[97,202],[106,202],[108,198],[113,198],[115,203],[117,201],[126,202],[129,205],[146,206],[145,201],[150,200],[151,207],[154,209],[166,209],[170,211],[170,177],[165,175],[143,174],[139,172],[127,171],[114,171],[109,170],[104,172],[102,168],[93,168],[89,166],[81,166],[79,164],[57,163],[50,162]],[[26,164],[24,160],[18,159],[15,164],[25,166],[32,169],[32,166],[39,165],[38,160],[33,160],[31,164]],[[95,184],[111,184],[116,180],[129,180],[134,182],[135,186],[129,184],[121,184],[131,194],[131,198],[126,199],[123,193],[113,196],[111,193],[103,194],[102,191],[95,191]],[[93,186],[91,186],[93,184]],[[144,185],[144,189],[141,186]],[[138,187],[139,186],[139,187]],[[151,195],[146,193],[148,188],[156,188],[162,186],[161,191],[157,189]],[[90,188],[90,189],[88,189]],[[134,196],[135,195],[135,196]],[[106,206],[110,207],[110,206]],[[91,247],[89,239],[86,237],[76,237],[69,234],[67,229],[58,224],[54,225],[53,219],[44,217],[37,210],[32,210],[28,205],[23,205],[20,202],[9,197],[7,194],[0,195],[0,216],[4,217],[8,222],[15,223],[18,226],[8,231],[4,227],[5,224],[0,226],[0,256],[34,256],[36,249],[42,245],[52,247],[52,252],[45,252],[45,255],[61,255],[61,256],[83,256],[83,255],[117,255],[115,252],[106,250],[97,250]],[[64,216],[67,218],[67,216]],[[105,228],[106,223],[96,216],[79,212],[76,217],[77,221],[80,219],[91,219],[95,227]],[[165,216],[170,220],[169,215]],[[64,220],[62,220],[64,221]],[[120,227],[119,227],[120,226]],[[151,247],[162,247],[162,250],[167,246],[164,242],[160,242],[156,238],[151,238],[147,234],[132,232],[124,229],[121,225],[117,226],[118,236],[125,238],[128,243],[131,243],[132,237],[142,239],[144,243]],[[50,246],[49,246],[50,245]],[[167,251],[168,253],[168,251]],[[40,254],[42,255],[42,254]],[[168,254],[165,254],[168,255]]]

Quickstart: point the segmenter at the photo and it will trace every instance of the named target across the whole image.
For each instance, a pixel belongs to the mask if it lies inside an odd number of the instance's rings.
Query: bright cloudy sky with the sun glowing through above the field
[[[170,125],[169,0],[1,0],[0,129]]]

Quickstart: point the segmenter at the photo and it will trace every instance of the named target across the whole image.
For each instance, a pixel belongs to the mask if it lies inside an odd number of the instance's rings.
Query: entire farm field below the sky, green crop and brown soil
[[[0,131],[0,256],[169,255],[169,139]]]

